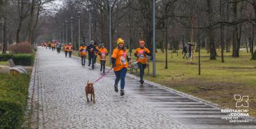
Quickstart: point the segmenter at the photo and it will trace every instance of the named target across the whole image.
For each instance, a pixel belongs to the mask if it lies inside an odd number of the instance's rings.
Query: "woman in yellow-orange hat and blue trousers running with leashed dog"
[[[115,72],[116,79],[114,88],[115,91],[118,92],[118,83],[120,82],[120,95],[125,95],[125,76],[128,68],[129,58],[127,56],[125,41],[121,38],[117,41],[117,47],[113,50],[113,54],[111,56],[111,63],[113,71]]]

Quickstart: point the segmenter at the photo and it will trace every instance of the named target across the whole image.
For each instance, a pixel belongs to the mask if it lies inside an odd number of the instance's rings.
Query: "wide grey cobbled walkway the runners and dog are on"
[[[86,65],[88,63],[86,62]],[[99,66],[82,67],[77,57],[66,58],[38,48],[30,82],[28,109],[31,128],[256,128],[255,121],[229,123],[221,111],[179,92],[126,78],[125,97],[113,91],[114,75],[95,83],[96,103],[87,103],[87,80],[101,76]]]

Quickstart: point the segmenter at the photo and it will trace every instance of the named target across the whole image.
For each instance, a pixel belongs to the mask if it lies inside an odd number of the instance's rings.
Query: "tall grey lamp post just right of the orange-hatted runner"
[[[153,0],[153,77],[156,77],[156,0]]]

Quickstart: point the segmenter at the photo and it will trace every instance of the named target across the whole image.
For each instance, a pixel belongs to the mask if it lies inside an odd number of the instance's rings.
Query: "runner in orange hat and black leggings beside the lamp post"
[[[145,48],[145,41],[141,40],[139,43],[140,48],[135,50],[134,55],[137,57],[136,61],[138,62],[138,68],[140,68],[140,83],[143,84],[144,70],[147,67],[147,55],[151,56],[151,53]]]

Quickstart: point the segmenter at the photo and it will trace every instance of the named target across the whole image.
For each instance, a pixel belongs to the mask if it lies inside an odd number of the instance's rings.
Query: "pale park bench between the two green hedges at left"
[[[11,75],[18,75],[21,73],[28,74],[25,68],[23,66],[15,66],[15,62],[12,59],[8,60],[9,70]]]

